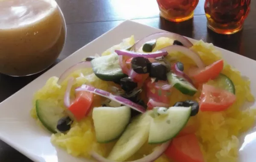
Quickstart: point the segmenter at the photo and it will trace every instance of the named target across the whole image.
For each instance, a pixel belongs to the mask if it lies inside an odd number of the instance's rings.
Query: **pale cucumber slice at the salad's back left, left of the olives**
[[[116,53],[97,57],[91,61],[91,64],[95,75],[104,81],[119,81],[127,76],[122,73],[119,56]]]

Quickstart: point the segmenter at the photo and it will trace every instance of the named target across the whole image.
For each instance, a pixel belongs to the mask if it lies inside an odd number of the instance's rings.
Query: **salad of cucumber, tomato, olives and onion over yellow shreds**
[[[253,101],[212,44],[160,32],[49,78],[31,115],[54,145],[98,162],[237,162]]]

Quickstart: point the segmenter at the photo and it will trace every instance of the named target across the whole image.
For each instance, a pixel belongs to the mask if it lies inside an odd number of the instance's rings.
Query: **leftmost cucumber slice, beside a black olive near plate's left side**
[[[35,109],[36,115],[43,126],[52,133],[57,133],[58,120],[64,117],[64,109],[45,100],[35,101]]]

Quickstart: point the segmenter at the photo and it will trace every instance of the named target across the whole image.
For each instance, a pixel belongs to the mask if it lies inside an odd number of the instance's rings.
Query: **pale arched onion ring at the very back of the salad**
[[[145,44],[145,42],[151,41],[153,39],[158,39],[160,37],[168,37],[168,38],[171,38],[171,39],[178,40],[178,41],[180,41],[186,47],[192,47],[193,46],[193,44],[189,41],[189,39],[186,39],[184,36],[164,31],[164,32],[154,33],[154,34],[151,34],[149,36],[146,36],[143,39],[140,39],[138,42],[136,42],[132,46],[132,50],[138,51],[140,49],[140,47]]]

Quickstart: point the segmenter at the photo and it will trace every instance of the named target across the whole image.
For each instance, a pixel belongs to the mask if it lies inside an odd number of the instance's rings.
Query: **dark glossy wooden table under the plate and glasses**
[[[126,19],[194,39],[203,39],[205,42],[211,42],[218,47],[256,60],[256,0],[251,0],[251,11],[244,23],[243,30],[233,35],[220,35],[207,29],[204,0],[199,0],[192,20],[180,23],[168,22],[160,18],[156,0],[56,1],[63,11],[67,23],[66,44],[56,63]],[[21,78],[0,74],[0,102],[41,74]],[[0,162],[32,161],[0,141]]]

